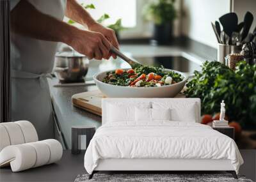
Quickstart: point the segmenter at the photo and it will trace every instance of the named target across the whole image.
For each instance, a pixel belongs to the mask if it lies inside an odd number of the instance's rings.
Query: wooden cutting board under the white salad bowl
[[[101,100],[106,98],[99,89],[83,93],[77,93],[72,96],[72,104],[81,109],[92,112],[101,116]],[[175,98],[185,98],[184,95],[178,94]]]

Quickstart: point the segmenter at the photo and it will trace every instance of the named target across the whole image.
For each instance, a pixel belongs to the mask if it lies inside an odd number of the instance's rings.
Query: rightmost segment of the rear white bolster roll
[[[25,143],[38,141],[38,136],[35,127],[29,121],[15,121],[23,133]]]

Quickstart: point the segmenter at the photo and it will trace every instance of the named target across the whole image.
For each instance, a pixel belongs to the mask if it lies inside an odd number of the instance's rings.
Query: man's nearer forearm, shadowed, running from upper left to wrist
[[[67,44],[71,41],[70,33],[78,31],[76,27],[41,13],[28,1],[20,1],[11,11],[11,27],[17,34]]]

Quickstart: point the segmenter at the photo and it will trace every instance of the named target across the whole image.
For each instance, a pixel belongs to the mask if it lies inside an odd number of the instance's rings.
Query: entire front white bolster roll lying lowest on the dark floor
[[[7,146],[0,152],[0,167],[10,163],[13,172],[23,171],[60,160],[63,153],[58,140]]]

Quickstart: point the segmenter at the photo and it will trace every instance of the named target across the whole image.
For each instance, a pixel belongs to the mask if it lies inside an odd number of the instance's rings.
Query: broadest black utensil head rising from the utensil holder
[[[232,36],[232,32],[236,31],[238,18],[236,13],[227,13],[220,17],[220,22],[223,27],[223,31],[229,36]]]

